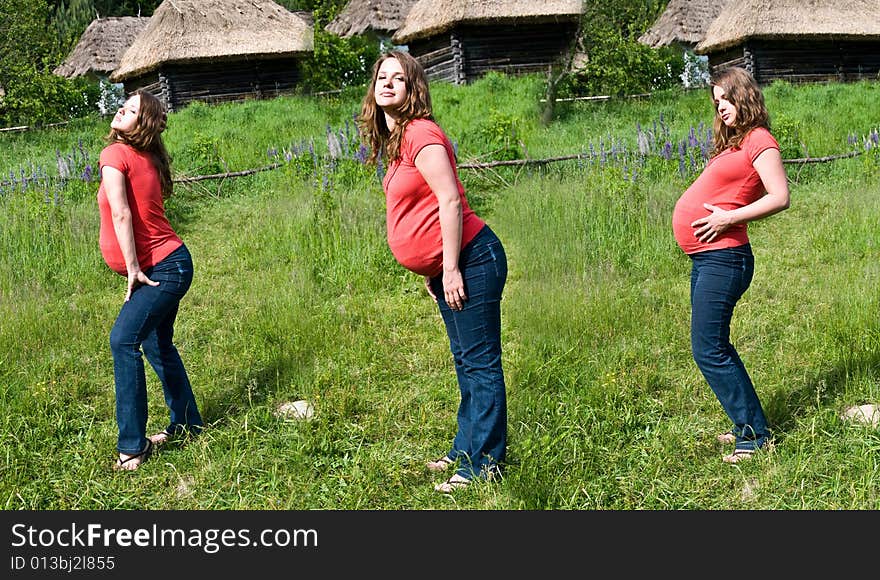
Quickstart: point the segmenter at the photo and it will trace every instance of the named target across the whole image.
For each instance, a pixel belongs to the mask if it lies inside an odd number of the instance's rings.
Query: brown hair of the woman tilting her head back
[[[138,95],[141,98],[141,106],[138,109],[137,121],[134,129],[122,133],[116,129],[110,129],[107,135],[109,143],[125,143],[138,151],[150,153],[153,164],[159,172],[159,183],[162,185],[162,198],[168,199],[174,190],[171,181],[171,156],[162,142],[162,131],[168,125],[168,115],[162,101],[152,93],[138,89],[129,96]]]

